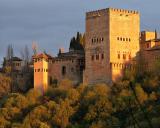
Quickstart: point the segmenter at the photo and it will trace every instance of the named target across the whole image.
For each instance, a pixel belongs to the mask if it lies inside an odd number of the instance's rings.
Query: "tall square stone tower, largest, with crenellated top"
[[[137,11],[107,8],[88,12],[83,82],[118,80],[139,51],[139,32]]]

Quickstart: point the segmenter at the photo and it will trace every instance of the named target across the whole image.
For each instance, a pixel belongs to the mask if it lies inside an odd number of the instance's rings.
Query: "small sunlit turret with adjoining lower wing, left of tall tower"
[[[74,85],[83,82],[84,51],[60,51],[57,57],[42,53],[33,56],[33,61],[34,88],[42,93],[63,79],[72,80]]]

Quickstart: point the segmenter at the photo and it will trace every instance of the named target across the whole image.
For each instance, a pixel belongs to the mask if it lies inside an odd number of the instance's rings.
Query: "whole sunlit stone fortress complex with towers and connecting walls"
[[[140,34],[138,11],[107,8],[88,12],[84,51],[34,56],[34,87],[44,91],[52,80],[65,78],[75,84],[118,81],[125,69],[134,70],[139,57],[143,67],[154,67],[155,61],[148,58],[160,58],[159,45],[156,32]]]

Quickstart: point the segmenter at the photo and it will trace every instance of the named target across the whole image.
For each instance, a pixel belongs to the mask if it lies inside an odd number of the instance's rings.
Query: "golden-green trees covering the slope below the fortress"
[[[112,86],[75,88],[64,80],[44,96],[35,90],[8,93],[0,100],[0,127],[159,128],[160,76],[126,74]]]

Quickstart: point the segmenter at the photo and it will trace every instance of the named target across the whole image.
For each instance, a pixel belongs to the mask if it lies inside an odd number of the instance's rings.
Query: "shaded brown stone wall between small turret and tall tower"
[[[80,63],[83,64],[80,64]],[[69,79],[74,84],[82,82],[81,65],[84,65],[84,58],[81,57],[65,57],[53,59],[49,68],[49,79],[58,80]]]

